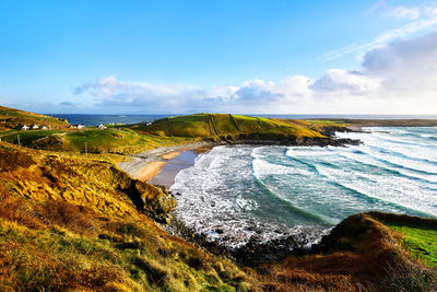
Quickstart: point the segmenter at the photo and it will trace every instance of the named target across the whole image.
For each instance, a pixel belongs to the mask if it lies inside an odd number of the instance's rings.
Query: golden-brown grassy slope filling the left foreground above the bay
[[[151,219],[174,198],[113,164],[0,142],[0,290],[234,291],[255,279]]]

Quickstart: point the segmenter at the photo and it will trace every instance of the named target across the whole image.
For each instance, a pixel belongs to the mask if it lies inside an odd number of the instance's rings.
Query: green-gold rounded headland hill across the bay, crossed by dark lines
[[[227,114],[197,114],[154,121],[150,126],[134,125],[133,130],[174,137],[237,137],[241,133],[264,133],[303,137],[323,137],[320,128],[302,120],[283,120]]]

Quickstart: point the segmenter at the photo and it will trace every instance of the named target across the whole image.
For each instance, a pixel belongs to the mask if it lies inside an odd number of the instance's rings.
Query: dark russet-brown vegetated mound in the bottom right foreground
[[[341,222],[323,237],[320,252],[267,264],[259,271],[270,282],[270,289],[279,291],[437,289],[436,270],[415,260],[400,245],[400,235],[374,219],[373,213],[352,215]]]

